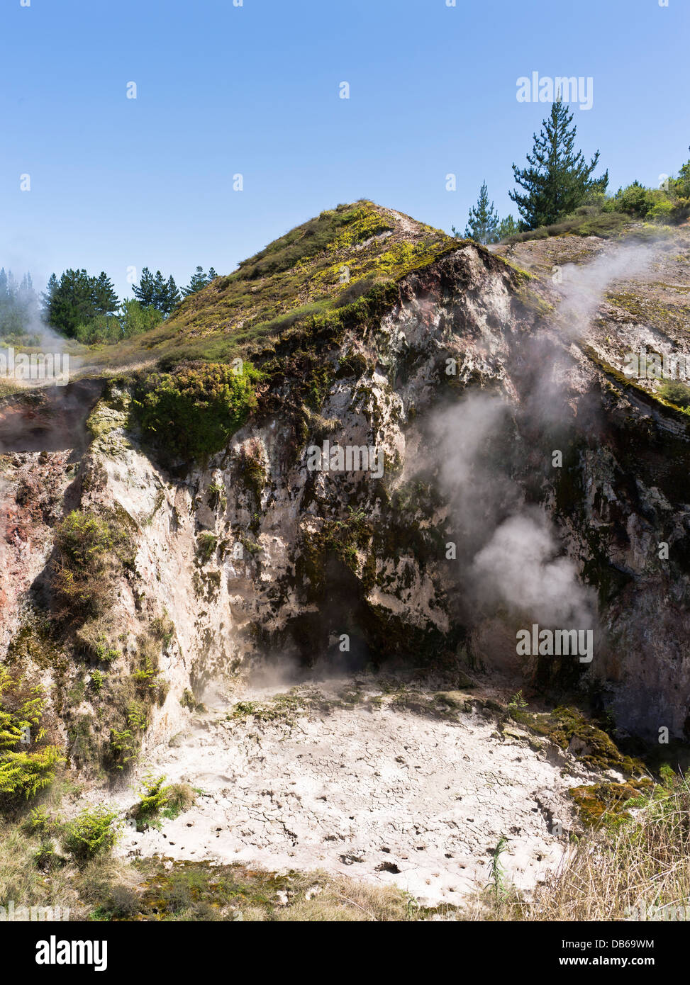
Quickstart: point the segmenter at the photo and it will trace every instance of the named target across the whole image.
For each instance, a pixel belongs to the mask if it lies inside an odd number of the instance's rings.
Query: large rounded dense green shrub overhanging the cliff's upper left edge
[[[242,427],[255,407],[260,374],[220,363],[190,362],[173,372],[153,373],[136,389],[131,424],[174,458],[213,455]]]

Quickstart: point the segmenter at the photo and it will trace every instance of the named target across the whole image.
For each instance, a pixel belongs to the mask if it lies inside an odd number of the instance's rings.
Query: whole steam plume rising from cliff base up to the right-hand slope
[[[593,592],[581,582],[553,521],[525,501],[517,482],[530,449],[516,436],[513,414],[522,435],[564,427],[576,366],[570,345],[586,336],[609,284],[644,274],[652,257],[650,247],[627,246],[588,265],[563,267],[557,281],[562,299],[551,326],[558,335],[544,333],[526,350],[520,347],[525,386],[517,411],[501,395],[470,392],[433,419],[465,597],[478,615],[502,607],[552,627],[596,624]]]

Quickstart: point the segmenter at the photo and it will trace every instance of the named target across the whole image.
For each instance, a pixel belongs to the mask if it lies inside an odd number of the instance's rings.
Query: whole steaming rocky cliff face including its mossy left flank
[[[366,248],[404,238],[411,221],[388,219]],[[2,652],[55,686],[73,764],[123,765],[118,736],[160,743],[252,662],[581,689],[623,730],[690,738],[690,419],[621,373],[641,342],[688,351],[690,235],[673,237],[644,262],[593,238],[502,247],[508,263],[443,243],[376,316],[262,343],[258,404],[203,464],[142,439],[126,376],[45,398],[42,448],[15,398]],[[59,399],[88,440],[69,441]],[[106,612],[56,629],[53,535],[74,509],[110,517],[128,548],[108,561]],[[591,628],[591,661],[519,656],[534,623]]]

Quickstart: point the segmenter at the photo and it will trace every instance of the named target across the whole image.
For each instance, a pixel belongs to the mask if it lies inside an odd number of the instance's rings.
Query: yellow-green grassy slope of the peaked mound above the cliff
[[[293,326],[335,314],[457,246],[442,230],[373,202],[339,205],[185,298],[162,325],[92,349],[87,361],[122,366],[246,358]]]

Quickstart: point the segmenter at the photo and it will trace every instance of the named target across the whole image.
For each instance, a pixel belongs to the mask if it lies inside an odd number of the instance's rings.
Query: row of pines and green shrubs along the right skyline
[[[559,94],[549,117],[542,121],[539,134],[533,135],[526,166],[513,164],[518,188],[510,191],[509,197],[517,205],[519,218],[499,218],[484,181],[477,203],[470,209],[465,238],[480,243],[499,242],[518,232],[553,226],[582,209],[593,214],[623,212],[639,219],[669,222],[681,221],[690,213],[690,162],[681,167],[677,178],[667,179],[664,187],[645,188],[634,181],[608,196],[608,170],[593,177],[599,152],[587,162],[582,151],[575,149],[576,136],[573,113]],[[462,235],[454,226],[451,229],[454,235]]]

